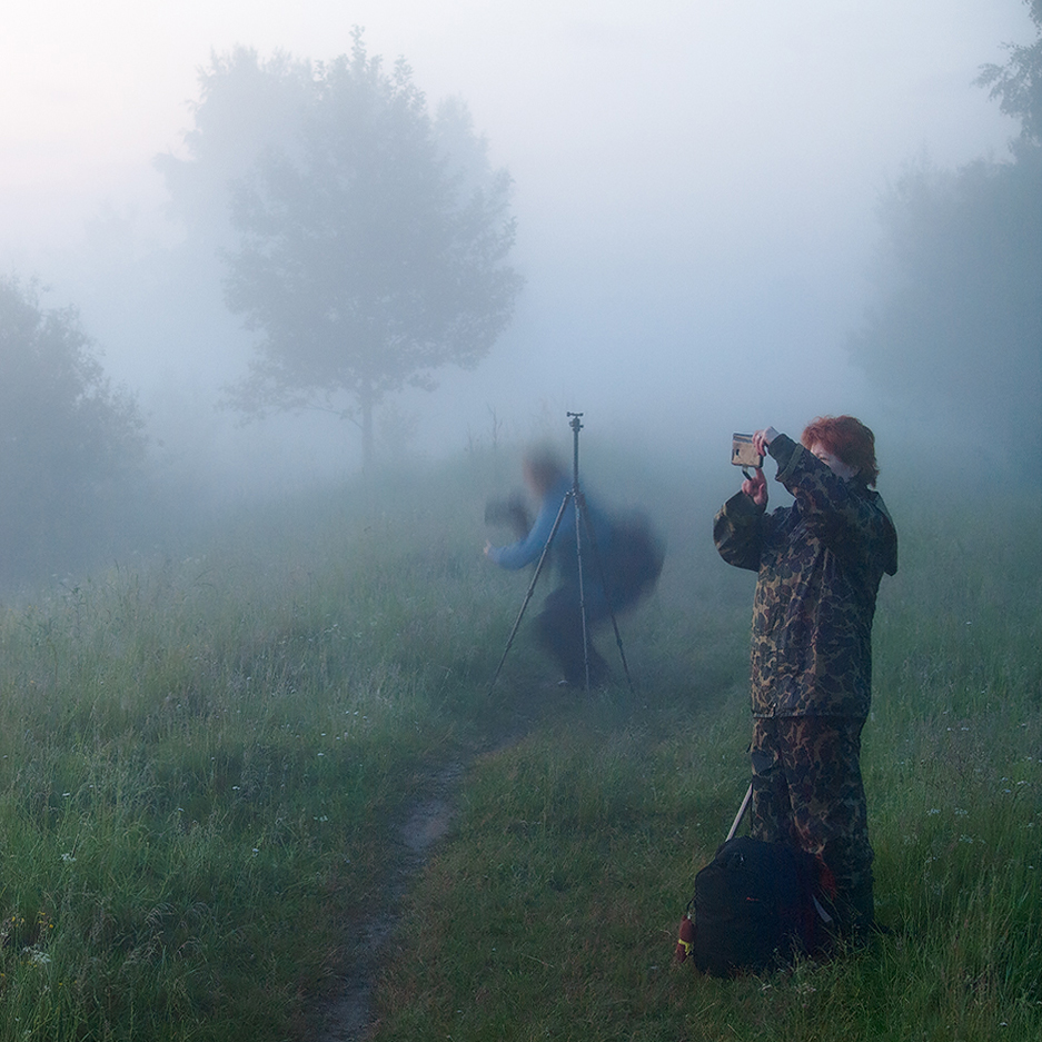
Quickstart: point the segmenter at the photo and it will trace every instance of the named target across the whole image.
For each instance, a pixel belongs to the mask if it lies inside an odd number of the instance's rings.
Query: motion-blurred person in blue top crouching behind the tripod
[[[486,519],[512,524],[518,536],[507,546],[485,544],[485,556],[502,568],[518,569],[539,559],[554,528],[573,479],[549,449],[534,449],[524,459],[523,473],[528,490],[539,504],[535,520],[528,525],[527,514],[516,498],[505,505],[486,509]],[[595,625],[632,607],[654,585],[662,569],[663,555],[646,523],[613,519],[596,500],[579,489],[585,502],[586,518],[592,533],[583,536],[583,599],[586,604],[586,644],[583,644],[583,609],[579,599],[579,565],[576,553],[574,503],[560,518],[549,549],[549,564],[558,574],[557,587],[547,595],[536,617],[540,646],[560,667],[562,683],[569,687],[607,682],[611,671],[592,642]],[[527,527],[527,532],[525,528]],[[591,545],[591,534],[596,546]],[[598,564],[599,558],[599,564]],[[607,585],[607,589],[605,589]]]

